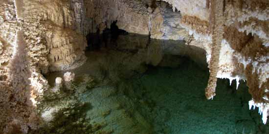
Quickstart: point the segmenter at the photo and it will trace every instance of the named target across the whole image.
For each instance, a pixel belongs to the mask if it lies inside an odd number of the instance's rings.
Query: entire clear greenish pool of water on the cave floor
[[[269,132],[257,109],[248,110],[251,96],[246,82],[240,81],[236,90],[235,81],[230,86],[227,79],[218,79],[217,96],[213,100],[205,98],[209,71],[201,49],[186,46],[182,41],[154,40],[131,34],[106,41],[101,41],[100,45],[105,43],[107,47],[86,51],[87,62],[70,70],[76,79],[87,74],[96,82],[84,92],[68,95],[86,104],[70,121],[91,125],[90,131],[76,125],[71,130],[80,129],[77,132],[85,134]],[[53,86],[55,77],[62,77],[63,73],[46,76],[50,85]],[[85,87],[83,83],[76,85],[75,90]],[[68,117],[63,123],[67,122]],[[46,132],[73,132],[70,131],[72,125],[68,125],[69,129],[64,124],[57,127]]]

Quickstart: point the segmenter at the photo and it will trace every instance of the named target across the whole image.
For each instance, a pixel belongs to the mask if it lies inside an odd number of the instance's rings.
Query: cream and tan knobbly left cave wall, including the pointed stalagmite
[[[72,4],[0,0],[0,133],[38,129],[36,106],[49,88],[42,74],[86,61],[82,20]]]

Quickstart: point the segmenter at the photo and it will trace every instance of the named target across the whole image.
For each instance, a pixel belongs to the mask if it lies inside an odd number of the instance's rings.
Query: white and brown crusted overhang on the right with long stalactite
[[[228,78],[230,81],[236,79],[237,87],[239,80],[244,79],[247,80],[249,93],[255,105],[269,105],[267,94],[269,2],[267,0],[225,0],[223,9],[217,9],[217,13],[222,13],[217,16],[218,19],[214,19],[216,12],[212,11],[216,8],[214,6],[223,0],[163,1],[167,1],[172,4],[173,9],[180,11],[182,16],[180,26],[194,37],[189,44],[199,46],[207,52],[211,76],[206,89],[207,98],[214,96],[216,79],[213,77]],[[220,19],[222,21],[219,21]],[[221,24],[217,25],[217,28],[211,28],[210,26],[216,24],[215,20]],[[214,29],[223,31],[223,34],[217,35],[218,43],[215,42]],[[219,48],[215,48],[216,45]],[[263,113],[267,115],[265,111]],[[265,117],[263,118],[265,123]]]

